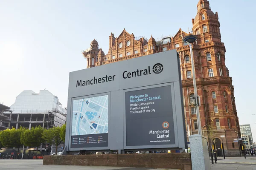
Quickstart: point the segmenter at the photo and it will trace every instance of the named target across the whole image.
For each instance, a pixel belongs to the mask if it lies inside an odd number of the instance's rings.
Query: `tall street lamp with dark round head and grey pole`
[[[188,35],[183,38],[183,42],[186,42],[189,44],[190,48],[190,55],[191,55],[191,65],[192,65],[192,78],[193,78],[193,86],[194,86],[194,94],[195,94],[195,108],[196,108],[196,117],[198,122],[198,134],[202,135],[202,127],[201,127],[201,119],[200,119],[200,112],[199,112],[199,98],[197,93],[197,87],[196,87],[196,80],[195,80],[195,65],[194,65],[194,59],[193,59],[193,52],[192,52],[192,43],[197,40],[196,35]]]

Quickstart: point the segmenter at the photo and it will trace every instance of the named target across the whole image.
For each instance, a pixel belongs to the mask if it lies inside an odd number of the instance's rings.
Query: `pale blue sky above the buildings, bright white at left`
[[[253,53],[256,2],[210,0],[218,11],[226,65],[235,88],[240,124],[256,136]],[[67,106],[70,71],[86,68],[81,51],[95,38],[105,54],[109,35],[123,28],[154,38],[192,28],[198,0],[0,1],[0,102],[12,105],[23,90],[47,89]],[[254,45],[255,46],[255,45]],[[256,137],[254,137],[256,140]]]

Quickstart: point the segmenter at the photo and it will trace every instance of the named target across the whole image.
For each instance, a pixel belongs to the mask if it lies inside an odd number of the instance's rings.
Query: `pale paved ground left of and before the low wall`
[[[43,165],[43,160],[0,159],[0,170],[166,170],[154,168]]]

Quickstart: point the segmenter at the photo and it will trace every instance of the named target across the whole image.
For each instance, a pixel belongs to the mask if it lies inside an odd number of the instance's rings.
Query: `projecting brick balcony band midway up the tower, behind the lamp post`
[[[230,82],[232,82],[231,77],[223,77],[223,76],[196,79],[197,85],[212,85],[212,84],[218,84],[218,83],[230,85]],[[193,79],[182,80],[182,86],[183,87],[193,86]]]

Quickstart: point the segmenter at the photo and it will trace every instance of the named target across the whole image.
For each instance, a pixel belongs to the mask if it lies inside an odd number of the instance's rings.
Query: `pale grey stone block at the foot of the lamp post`
[[[210,170],[207,139],[201,135],[189,136],[193,170]]]

